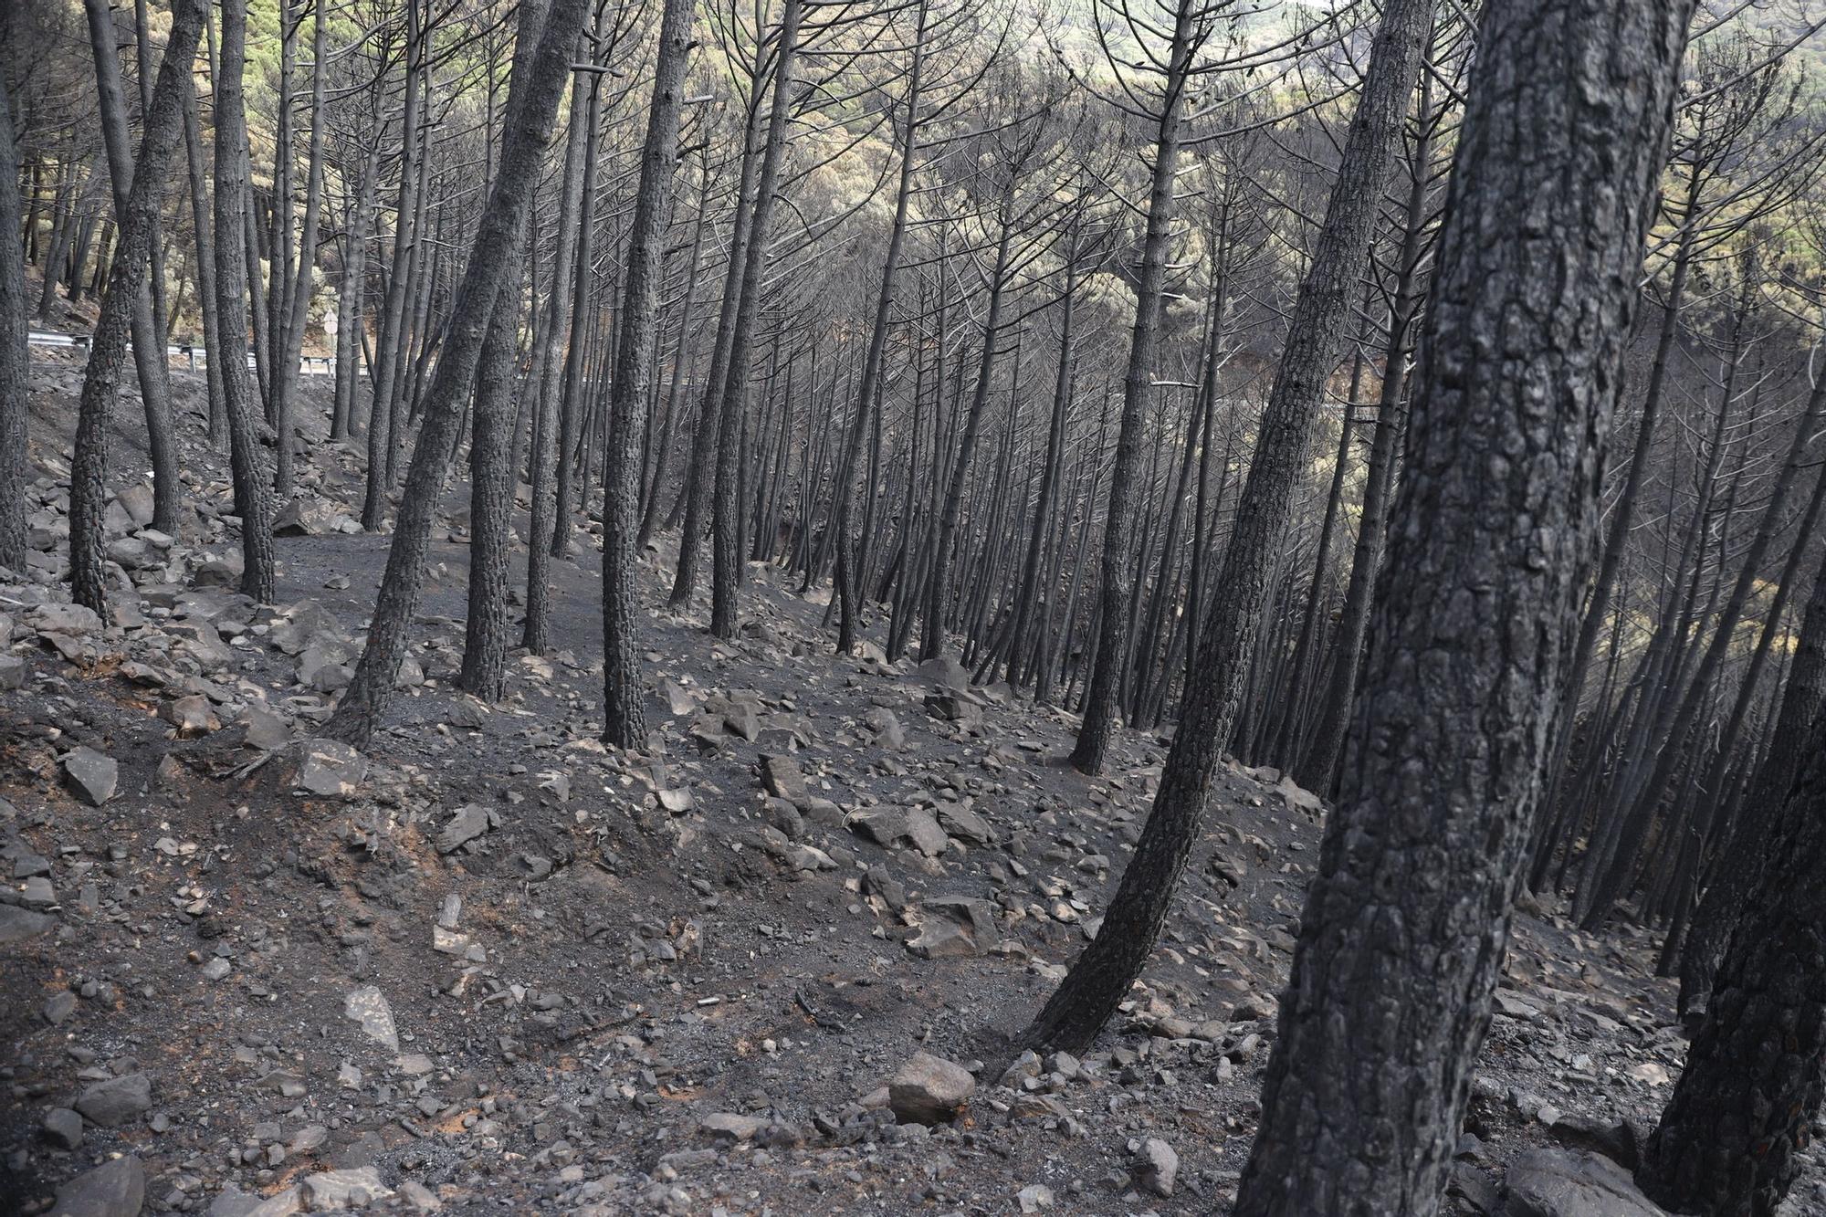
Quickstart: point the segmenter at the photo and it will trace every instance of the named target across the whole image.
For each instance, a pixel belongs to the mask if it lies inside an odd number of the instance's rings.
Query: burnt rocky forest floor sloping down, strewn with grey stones
[[[223,587],[225,457],[177,376],[201,510],[148,539],[121,495],[137,587],[82,621],[55,581],[79,380],[35,364],[37,552],[0,585],[24,663],[0,693],[0,1212],[51,1212],[117,1155],[146,1212],[1227,1210],[1317,861],[1309,795],[1229,767],[1145,987],[1094,1049],[1019,1085],[982,1071],[951,1124],[897,1124],[880,1087],[902,1062],[981,1069],[1081,948],[1163,740],[1123,733],[1083,778],[1070,714],[959,698],[955,665],[838,660],[824,601],[778,568],[750,565],[741,634],[716,641],[705,603],[661,608],[666,537],[641,565],[650,747],[608,751],[582,530],[551,570],[555,652],[515,652],[480,705],[455,689],[453,486],[416,683],[365,757],[305,764],[283,744],[327,714],[387,557],[347,532],[362,451],[309,435],[310,535],[278,539],[279,603],[254,605]],[[144,475],[135,411],[110,492]],[[117,766],[99,806],[77,747]],[[1685,1051],[1653,950],[1519,915],[1452,1212],[1494,1210],[1528,1148],[1653,1120]],[[1178,1159],[1170,1195],[1138,1169],[1147,1138]],[[1822,1195],[1815,1171],[1789,1210]]]

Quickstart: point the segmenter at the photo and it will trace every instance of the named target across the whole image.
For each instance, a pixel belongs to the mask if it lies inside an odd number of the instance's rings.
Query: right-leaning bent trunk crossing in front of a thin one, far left
[[[89,342],[89,362],[82,369],[82,397],[77,406],[77,451],[69,470],[69,587],[75,601],[95,612],[106,607],[106,561],[102,554],[102,512],[108,479],[108,415],[113,413],[126,362],[128,331],[133,316],[150,300],[144,296],[152,236],[159,225],[159,196],[177,141],[184,133],[184,90],[190,64],[197,55],[206,15],[205,0],[179,0],[172,13],[159,84],[146,113],[133,186],[121,206],[121,239],[115,270],[102,296],[102,311]],[[104,13],[106,15],[106,13]],[[111,29],[110,22],[110,29]],[[110,53],[113,48],[108,48]],[[119,84],[119,80],[117,80]],[[11,238],[9,238],[11,239]],[[13,256],[11,250],[7,254]]]

